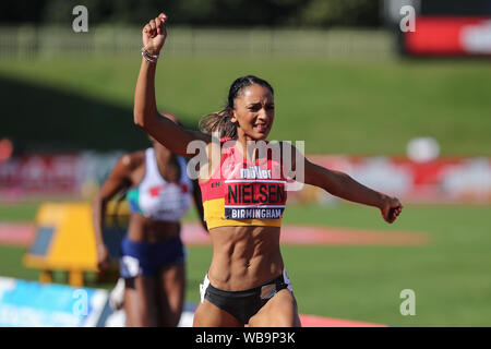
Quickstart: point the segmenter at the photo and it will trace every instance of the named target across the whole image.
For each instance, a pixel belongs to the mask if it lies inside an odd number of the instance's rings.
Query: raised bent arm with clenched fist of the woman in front
[[[159,55],[164,47],[167,36],[166,21],[167,16],[160,13],[158,17],[151,20],[143,28],[143,47],[149,55]],[[192,157],[195,153],[188,154],[188,144],[196,140],[208,143],[211,136],[185,130],[157,111],[155,100],[156,64],[156,62],[149,62],[142,58],[134,93],[134,122],[172,153]]]

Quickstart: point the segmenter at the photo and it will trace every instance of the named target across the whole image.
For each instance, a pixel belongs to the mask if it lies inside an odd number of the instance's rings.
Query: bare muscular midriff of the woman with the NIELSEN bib
[[[209,230],[211,284],[221,290],[256,287],[283,273],[279,227],[218,227]]]

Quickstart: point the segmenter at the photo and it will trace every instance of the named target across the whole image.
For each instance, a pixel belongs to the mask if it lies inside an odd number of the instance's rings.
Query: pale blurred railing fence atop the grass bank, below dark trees
[[[87,33],[71,27],[0,27],[0,58],[134,55],[141,41],[139,27],[98,26]],[[396,48],[393,35],[383,29],[176,27],[169,29],[166,55],[383,59],[396,55]]]

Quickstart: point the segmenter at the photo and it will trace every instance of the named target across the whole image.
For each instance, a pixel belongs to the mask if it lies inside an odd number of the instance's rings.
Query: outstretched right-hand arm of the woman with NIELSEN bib
[[[300,164],[298,164],[298,161],[303,160],[303,182],[306,184],[322,188],[328,193],[344,200],[378,207],[385,221],[391,224],[400,214],[403,205],[397,197],[392,197],[364,186],[344,172],[330,170],[315,165],[309,161],[303,155],[299,154],[298,149],[295,147],[294,154],[292,158],[297,159],[296,161],[294,160],[296,163],[296,169],[300,169]]]

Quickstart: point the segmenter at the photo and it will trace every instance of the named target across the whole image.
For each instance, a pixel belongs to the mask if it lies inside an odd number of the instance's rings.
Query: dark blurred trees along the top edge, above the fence
[[[378,26],[375,0],[16,0],[0,2],[0,23],[71,24],[85,5],[92,24],[141,25],[159,11],[172,24],[197,26]]]

